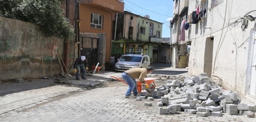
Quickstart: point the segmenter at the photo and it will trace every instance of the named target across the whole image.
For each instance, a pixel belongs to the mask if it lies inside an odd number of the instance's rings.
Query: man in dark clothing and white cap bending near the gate
[[[83,64],[83,62],[85,61],[85,65]],[[79,58],[77,58],[77,60],[75,61],[74,63],[74,72],[77,73],[77,77],[76,77],[76,80],[81,80],[79,78],[79,73],[80,73],[80,69],[82,71],[82,79],[85,79],[85,67],[86,67],[86,70],[88,70],[88,61],[87,59],[85,58],[85,56],[81,56]]]

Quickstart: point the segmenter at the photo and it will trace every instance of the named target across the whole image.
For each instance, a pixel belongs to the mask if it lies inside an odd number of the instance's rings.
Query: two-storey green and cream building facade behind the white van
[[[141,17],[128,11],[118,14],[117,18],[111,56],[125,53],[146,54],[153,60],[153,53],[156,53],[154,51],[158,50],[162,42],[162,23],[149,19],[148,15]]]

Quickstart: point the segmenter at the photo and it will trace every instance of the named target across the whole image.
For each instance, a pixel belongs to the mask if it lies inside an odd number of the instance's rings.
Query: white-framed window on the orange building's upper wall
[[[91,28],[102,29],[102,15],[91,13]]]

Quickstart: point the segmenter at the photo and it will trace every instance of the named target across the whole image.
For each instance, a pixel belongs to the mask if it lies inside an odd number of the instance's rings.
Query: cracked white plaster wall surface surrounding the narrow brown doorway
[[[200,2],[201,0],[199,0]],[[250,29],[254,28],[255,22],[248,22],[247,29],[241,29],[241,17],[254,10],[256,3],[254,0],[223,0],[224,2],[211,8],[213,0],[208,0],[207,17],[197,24],[191,25],[191,31],[186,31],[187,41],[191,41],[191,53],[189,56],[189,73],[198,75],[204,72],[205,55],[212,53],[212,78],[222,79],[222,86],[245,95],[248,62],[248,49]],[[239,3],[239,4],[237,4]],[[241,4],[240,4],[241,3]],[[189,2],[188,14],[195,11],[196,2]],[[232,7],[231,7],[232,6]],[[226,11],[226,15],[225,15]],[[249,15],[256,15],[252,12]],[[224,22],[225,19],[225,22]],[[224,24],[224,26],[223,26]],[[235,25],[234,25],[235,24]],[[204,28],[206,27],[206,28]],[[223,30],[222,30],[223,29]],[[213,40],[213,51],[208,52],[207,40]],[[233,52],[233,53],[232,53]],[[218,77],[216,77],[218,76]]]

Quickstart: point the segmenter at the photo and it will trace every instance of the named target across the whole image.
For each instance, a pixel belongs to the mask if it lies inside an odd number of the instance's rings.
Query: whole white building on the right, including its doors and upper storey
[[[247,19],[256,17],[255,6],[255,0],[174,0],[173,63],[180,62],[180,51],[191,46],[189,74],[206,72],[220,86],[255,98],[256,24]],[[185,31],[185,41],[179,41],[182,19],[189,22],[189,15],[197,7],[199,11],[205,9],[205,17],[191,23]]]

